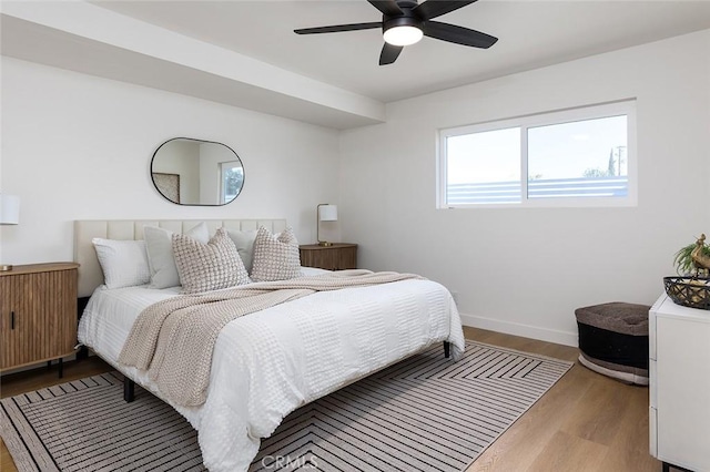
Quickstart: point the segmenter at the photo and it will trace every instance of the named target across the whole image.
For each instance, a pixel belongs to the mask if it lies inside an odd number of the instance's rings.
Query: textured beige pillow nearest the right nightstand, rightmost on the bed
[[[292,228],[284,229],[278,236],[263,226],[258,228],[251,276],[255,281],[301,277],[301,254]]]

